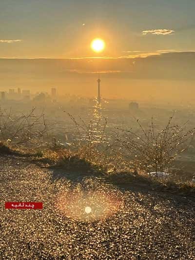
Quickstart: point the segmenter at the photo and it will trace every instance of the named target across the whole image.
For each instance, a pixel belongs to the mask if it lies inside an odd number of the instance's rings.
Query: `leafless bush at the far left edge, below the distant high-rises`
[[[8,146],[34,148],[49,142],[49,127],[44,114],[29,113],[16,115],[0,108],[0,141]]]

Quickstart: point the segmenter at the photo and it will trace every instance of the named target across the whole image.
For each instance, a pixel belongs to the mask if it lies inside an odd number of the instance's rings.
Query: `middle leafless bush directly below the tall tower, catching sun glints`
[[[108,121],[106,118],[90,120],[86,123],[80,117],[76,120],[72,115],[65,112],[75,125],[74,136],[70,149],[77,152],[80,158],[105,167],[117,166],[116,141],[111,132],[108,133]],[[121,165],[121,163],[119,163]]]

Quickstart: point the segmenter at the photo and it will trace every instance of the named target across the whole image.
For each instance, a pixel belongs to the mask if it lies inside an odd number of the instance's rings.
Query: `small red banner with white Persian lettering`
[[[5,202],[6,209],[42,209],[42,202]]]

